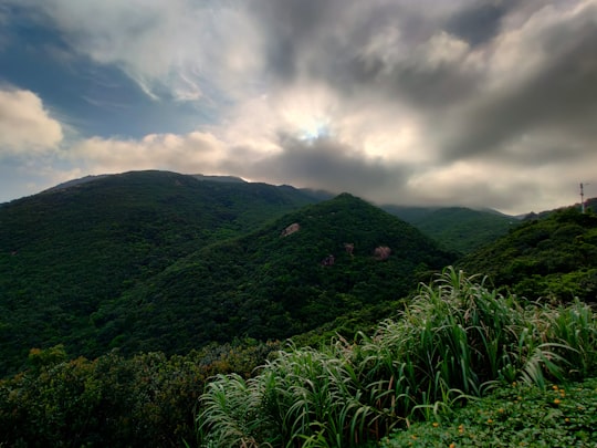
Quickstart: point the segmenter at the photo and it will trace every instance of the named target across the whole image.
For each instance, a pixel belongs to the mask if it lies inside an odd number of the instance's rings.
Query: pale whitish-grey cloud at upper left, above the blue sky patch
[[[250,87],[253,79],[247,74],[260,63],[259,34],[234,2],[24,0],[20,4],[43,11],[42,23],[60,29],[74,52],[119,66],[156,101],[235,97]]]

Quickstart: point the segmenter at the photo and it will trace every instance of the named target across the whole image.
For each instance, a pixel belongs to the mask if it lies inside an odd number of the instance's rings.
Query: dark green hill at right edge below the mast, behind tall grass
[[[530,300],[597,302],[597,216],[578,206],[530,216],[460,267]]]

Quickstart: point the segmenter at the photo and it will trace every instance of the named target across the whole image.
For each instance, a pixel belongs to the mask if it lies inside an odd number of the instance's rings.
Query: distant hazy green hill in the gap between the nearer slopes
[[[519,218],[490,209],[389,205],[383,208],[417,227],[443,248],[460,253],[469,253],[495,241],[520,223]]]

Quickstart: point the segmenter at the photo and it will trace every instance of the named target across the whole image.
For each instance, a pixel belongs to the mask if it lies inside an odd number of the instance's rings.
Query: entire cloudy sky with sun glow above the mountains
[[[0,202],[164,169],[519,215],[596,167],[597,0],[0,0]]]

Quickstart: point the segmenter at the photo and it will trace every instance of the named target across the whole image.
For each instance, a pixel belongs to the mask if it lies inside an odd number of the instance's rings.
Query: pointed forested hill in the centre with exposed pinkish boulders
[[[453,257],[348,194],[202,248],[106,302],[98,340],[126,353],[283,338],[406,296]]]

